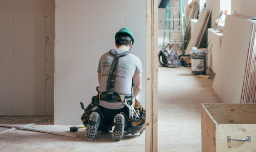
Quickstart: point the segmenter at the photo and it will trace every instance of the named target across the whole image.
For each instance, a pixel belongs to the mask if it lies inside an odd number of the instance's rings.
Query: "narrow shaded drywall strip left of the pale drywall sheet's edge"
[[[54,115],[55,0],[46,0],[45,114]]]

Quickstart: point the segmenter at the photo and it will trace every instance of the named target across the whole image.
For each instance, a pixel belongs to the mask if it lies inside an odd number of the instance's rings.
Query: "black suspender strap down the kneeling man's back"
[[[114,60],[111,64],[110,71],[109,71],[106,95],[109,95],[109,98],[113,98],[113,93],[114,93],[114,88],[116,83],[117,64],[118,64],[119,57],[127,56],[129,53],[132,53],[132,52],[125,51],[123,53],[117,53],[116,50],[114,49],[111,49],[109,52],[111,55],[114,56]]]

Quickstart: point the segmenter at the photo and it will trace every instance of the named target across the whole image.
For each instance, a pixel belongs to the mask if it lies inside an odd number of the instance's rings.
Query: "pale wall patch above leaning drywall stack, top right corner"
[[[256,0],[232,0],[231,1],[231,14],[235,11],[238,14],[256,16]]]

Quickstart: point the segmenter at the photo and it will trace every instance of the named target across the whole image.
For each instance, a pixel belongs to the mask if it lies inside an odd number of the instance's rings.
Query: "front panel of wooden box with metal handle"
[[[251,136],[251,142],[233,141],[231,139],[246,139]],[[256,124],[218,124],[218,152],[255,152]]]

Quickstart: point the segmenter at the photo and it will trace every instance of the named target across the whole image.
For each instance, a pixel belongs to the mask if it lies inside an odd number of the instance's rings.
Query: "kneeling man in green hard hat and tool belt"
[[[86,139],[93,141],[97,131],[112,132],[112,139],[122,140],[124,131],[142,133],[145,111],[135,97],[142,88],[142,63],[130,52],[134,43],[128,28],[116,33],[116,49],[103,54],[98,65],[98,95],[82,116]],[[133,86],[134,85],[134,86]],[[132,89],[133,88],[133,89]]]

